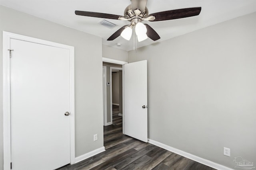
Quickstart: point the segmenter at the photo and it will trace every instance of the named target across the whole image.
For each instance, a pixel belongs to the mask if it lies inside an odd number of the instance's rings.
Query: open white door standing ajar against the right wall
[[[125,134],[148,142],[147,61],[124,65]]]

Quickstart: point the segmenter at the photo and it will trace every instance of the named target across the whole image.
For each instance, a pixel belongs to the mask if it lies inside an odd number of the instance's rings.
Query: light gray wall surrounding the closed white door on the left
[[[0,6],[2,31],[26,35],[75,47],[75,147],[76,156],[103,147],[102,39],[50,21]],[[2,43],[0,43],[0,88],[2,89]],[[89,83],[93,82],[93,83]],[[0,90],[0,170],[3,169],[3,112]],[[93,135],[98,134],[98,141]]]

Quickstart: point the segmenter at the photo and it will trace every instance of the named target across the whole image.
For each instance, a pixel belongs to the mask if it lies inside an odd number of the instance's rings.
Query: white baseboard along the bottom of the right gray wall
[[[194,160],[194,161],[199,162],[199,163],[201,163],[201,164],[204,164],[204,165],[206,165],[206,166],[210,166],[210,167],[215,168],[215,169],[217,169],[217,170],[233,170],[233,169],[228,168],[228,167],[226,167],[226,166],[223,166],[223,165],[221,165],[221,164],[217,164],[217,163],[212,162],[212,161],[210,161],[210,160],[207,160],[207,159],[204,159],[204,158],[200,158],[199,156],[196,156],[196,155],[190,154],[190,153],[188,153],[188,152],[184,152],[184,151],[182,151],[182,150],[179,150],[179,149],[170,147],[170,146],[168,146],[168,145],[165,145],[165,144],[163,144],[163,143],[154,141],[154,140],[152,140],[152,139],[148,139],[148,143],[151,143],[151,144],[153,144],[153,145],[156,145],[156,146],[158,146],[158,147],[160,147],[160,148],[162,148],[162,149],[169,150],[169,151],[171,151],[171,152],[174,152],[174,153],[176,153],[176,154],[179,154],[179,155],[181,155],[181,156],[184,156],[184,157],[186,157],[186,158],[189,158],[189,159],[191,159],[191,160]]]

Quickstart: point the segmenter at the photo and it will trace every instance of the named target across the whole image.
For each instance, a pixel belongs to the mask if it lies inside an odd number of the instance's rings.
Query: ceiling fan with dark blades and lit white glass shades
[[[130,40],[132,36],[132,29],[135,27],[135,33],[137,35],[138,41],[140,42],[147,39],[148,37],[154,41],[160,39],[158,33],[156,33],[156,31],[148,24],[143,24],[142,21],[174,20],[178,18],[197,16],[201,12],[201,7],[196,7],[148,14],[148,8],[146,7],[147,1],[148,0],[131,0],[132,3],[124,10],[124,16],[87,11],[75,11],[75,14],[79,16],[130,21],[129,25],[124,25],[118,29],[107,40],[112,41],[120,35],[124,39]]]

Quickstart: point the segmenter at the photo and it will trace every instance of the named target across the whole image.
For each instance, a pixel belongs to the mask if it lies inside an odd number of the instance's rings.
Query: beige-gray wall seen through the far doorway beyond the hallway
[[[112,103],[119,104],[119,71],[112,71]]]

